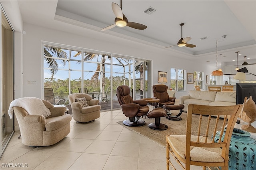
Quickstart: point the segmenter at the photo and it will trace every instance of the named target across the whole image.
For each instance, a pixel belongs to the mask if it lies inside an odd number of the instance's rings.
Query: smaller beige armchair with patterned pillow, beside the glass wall
[[[83,99],[85,98],[85,99]],[[99,100],[92,99],[85,93],[73,93],[68,95],[71,104],[73,119],[76,122],[90,122],[100,117],[101,106]]]

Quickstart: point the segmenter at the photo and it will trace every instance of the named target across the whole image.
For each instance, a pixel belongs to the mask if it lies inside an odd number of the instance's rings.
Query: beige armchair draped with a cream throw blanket
[[[38,103],[34,104],[33,101],[39,102],[39,105]],[[54,107],[46,100],[25,97],[12,101],[9,110],[13,110],[18,120],[24,145],[53,145],[70,132],[72,116],[65,115],[66,107]],[[47,117],[42,115],[43,110],[49,113]]]

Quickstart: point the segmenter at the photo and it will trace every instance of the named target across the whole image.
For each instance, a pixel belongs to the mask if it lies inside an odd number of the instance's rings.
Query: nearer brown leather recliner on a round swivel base
[[[145,121],[140,117],[146,115],[149,111],[146,100],[133,100],[130,96],[130,88],[127,85],[120,85],[116,88],[116,95],[122,111],[126,117],[123,124],[130,127],[139,127],[145,125]]]

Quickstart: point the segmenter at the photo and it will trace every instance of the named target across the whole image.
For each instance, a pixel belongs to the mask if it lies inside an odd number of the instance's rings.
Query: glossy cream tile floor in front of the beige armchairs
[[[70,133],[52,146],[32,148],[15,132],[1,170],[164,170],[166,150],[156,142],[119,125],[121,110],[102,112],[92,123],[71,121]],[[175,161],[172,161],[175,163]],[[10,164],[8,164],[10,163]],[[6,168],[3,165],[14,166]],[[18,168],[17,164],[23,166]],[[16,167],[15,167],[16,166]],[[177,166],[178,167],[178,166]],[[192,169],[202,169],[193,167]]]

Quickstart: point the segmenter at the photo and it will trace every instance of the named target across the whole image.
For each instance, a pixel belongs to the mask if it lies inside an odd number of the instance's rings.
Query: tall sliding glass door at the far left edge
[[[1,155],[14,133],[14,118],[8,116],[10,103],[14,99],[14,31],[4,12],[1,12]]]

